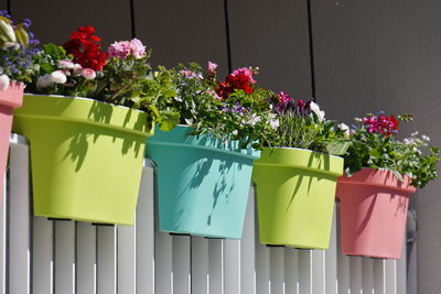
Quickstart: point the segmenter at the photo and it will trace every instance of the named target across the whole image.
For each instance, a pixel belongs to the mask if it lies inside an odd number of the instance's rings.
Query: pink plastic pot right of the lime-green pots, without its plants
[[[415,192],[409,183],[407,176],[401,183],[394,173],[375,168],[338,178],[336,197],[344,254],[401,257],[409,197]]]

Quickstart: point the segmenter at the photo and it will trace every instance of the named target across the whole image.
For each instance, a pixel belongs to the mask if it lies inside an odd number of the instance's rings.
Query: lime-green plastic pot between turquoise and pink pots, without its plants
[[[252,179],[260,242],[326,249],[343,159],[302,149],[263,150]]]

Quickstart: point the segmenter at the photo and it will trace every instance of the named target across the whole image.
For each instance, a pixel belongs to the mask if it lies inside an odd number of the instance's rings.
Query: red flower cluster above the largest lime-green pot
[[[100,37],[94,35],[93,26],[80,26],[71,33],[71,41],[63,47],[68,54],[74,55],[74,62],[83,67],[101,70],[106,64],[107,53],[101,51]]]

